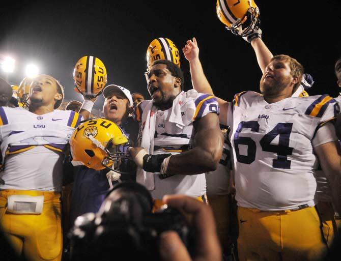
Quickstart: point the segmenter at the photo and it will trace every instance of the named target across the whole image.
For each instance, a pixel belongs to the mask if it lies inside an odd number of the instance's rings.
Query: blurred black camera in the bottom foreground
[[[176,231],[194,255],[195,231],[182,213],[167,206],[153,213],[153,199],[144,186],[119,183],[98,213],[75,220],[69,234],[71,261],[160,260],[159,236],[166,230]]]

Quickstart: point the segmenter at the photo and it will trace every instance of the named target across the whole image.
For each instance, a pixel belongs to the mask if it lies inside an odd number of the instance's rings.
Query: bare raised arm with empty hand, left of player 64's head
[[[182,51],[189,62],[193,89],[199,93],[214,95],[199,59],[199,48],[196,39],[193,37],[192,40],[188,40],[184,48],[182,48]],[[216,97],[216,99],[220,107],[219,122],[226,125],[229,102],[218,97]]]

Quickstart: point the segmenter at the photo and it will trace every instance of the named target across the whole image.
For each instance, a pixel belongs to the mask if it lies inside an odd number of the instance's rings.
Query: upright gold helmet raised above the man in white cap
[[[107,82],[105,66],[95,56],[83,56],[73,69],[73,79],[76,92],[89,98],[95,98],[102,93]]]

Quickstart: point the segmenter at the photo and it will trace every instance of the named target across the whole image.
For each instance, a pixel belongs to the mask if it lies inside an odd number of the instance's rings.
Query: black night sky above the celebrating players
[[[261,1],[263,40],[274,54],[295,57],[315,79],[309,94],[337,96],[334,63],[341,55],[340,1]],[[215,94],[231,100],[244,90],[259,89],[261,70],[251,46],[225,30],[215,1],[9,1],[0,10],[0,53],[14,57],[9,76],[19,84],[24,66],[36,63],[40,73],[59,79],[67,99],[82,100],[73,91],[72,72],[79,57],[94,55],[105,64],[108,83],[148,97],[144,72],[146,50],[157,37],[182,49],[196,37],[204,71]],[[181,51],[186,90],[189,66]],[[1,71],[0,77],[6,78]],[[96,107],[103,104],[101,97]]]

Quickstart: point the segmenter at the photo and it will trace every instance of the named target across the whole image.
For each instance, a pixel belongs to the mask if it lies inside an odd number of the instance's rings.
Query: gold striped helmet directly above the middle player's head
[[[147,70],[150,70],[157,60],[168,60],[180,67],[180,53],[178,47],[168,38],[156,38],[147,49]]]

